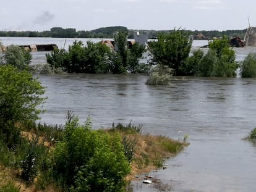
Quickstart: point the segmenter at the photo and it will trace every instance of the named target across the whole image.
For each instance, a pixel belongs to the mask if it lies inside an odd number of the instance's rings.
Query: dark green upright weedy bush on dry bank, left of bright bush
[[[27,182],[32,183],[38,173],[38,165],[41,164],[45,157],[46,149],[43,145],[44,141],[39,141],[38,135],[32,135],[29,139],[27,135],[27,142],[23,143],[25,150],[19,167],[22,169],[21,177]]]

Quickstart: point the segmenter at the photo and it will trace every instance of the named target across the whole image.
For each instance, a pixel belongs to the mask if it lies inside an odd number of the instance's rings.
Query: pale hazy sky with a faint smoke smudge
[[[0,30],[243,30],[256,26],[255,0],[0,0]]]

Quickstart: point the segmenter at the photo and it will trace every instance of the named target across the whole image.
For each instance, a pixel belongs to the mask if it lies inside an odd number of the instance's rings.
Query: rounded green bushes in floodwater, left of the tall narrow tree
[[[105,44],[74,41],[69,51],[54,49],[46,54],[47,62],[53,69],[61,68],[69,73],[108,73],[110,50]]]

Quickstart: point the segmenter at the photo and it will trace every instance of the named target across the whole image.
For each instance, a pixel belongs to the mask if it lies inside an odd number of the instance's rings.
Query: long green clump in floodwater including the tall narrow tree
[[[115,36],[115,50],[111,51],[103,43],[87,41],[84,46],[82,41],[74,41],[68,51],[54,49],[51,54],[46,54],[47,62],[53,68],[63,69],[69,73],[132,73],[145,70],[144,65],[139,65],[144,48],[135,43],[127,49],[127,32],[119,31]]]

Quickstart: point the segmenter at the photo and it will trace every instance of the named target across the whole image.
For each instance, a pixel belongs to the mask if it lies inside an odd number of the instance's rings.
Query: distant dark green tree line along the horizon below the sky
[[[77,31],[75,28],[53,27],[49,31],[0,31],[0,36],[24,36],[24,37],[52,37],[52,38],[113,38],[116,31],[128,31],[128,38],[134,38],[134,32],[139,31],[140,34],[148,33],[149,39],[155,39],[158,33],[170,33],[171,30],[129,30],[126,27],[102,27],[91,31]],[[228,36],[228,38],[239,37],[242,40],[246,29],[244,30],[226,30],[226,31],[190,31],[184,30],[188,35],[194,37],[195,40],[211,40],[213,38],[220,38],[221,36]]]

